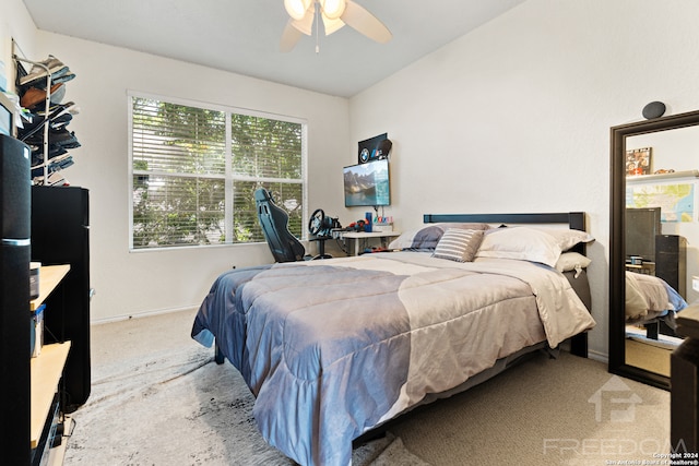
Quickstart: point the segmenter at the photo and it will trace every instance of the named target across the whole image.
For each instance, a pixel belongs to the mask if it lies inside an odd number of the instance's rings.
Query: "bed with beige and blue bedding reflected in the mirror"
[[[675,315],[687,306],[687,301],[664,279],[626,272],[626,323],[645,326],[649,338],[657,339],[661,322],[674,332],[677,327]]]

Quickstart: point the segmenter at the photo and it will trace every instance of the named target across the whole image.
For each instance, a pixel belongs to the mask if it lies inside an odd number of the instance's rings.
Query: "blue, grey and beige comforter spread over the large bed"
[[[257,398],[264,439],[301,465],[350,464],[353,439],[547,337],[541,299],[517,276],[419,253],[371,255],[226,272],[197,314],[192,337],[215,337]],[[514,262],[497,265],[558,279]],[[573,314],[581,309],[589,315],[581,302]]]

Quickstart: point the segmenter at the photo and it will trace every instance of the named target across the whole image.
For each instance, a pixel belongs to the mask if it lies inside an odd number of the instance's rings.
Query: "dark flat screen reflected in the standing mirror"
[[[655,262],[655,236],[662,235],[660,207],[626,210],[626,256]]]

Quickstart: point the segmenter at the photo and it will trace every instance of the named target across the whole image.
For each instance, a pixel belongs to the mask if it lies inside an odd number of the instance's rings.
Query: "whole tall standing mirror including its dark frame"
[[[609,371],[667,389],[675,314],[699,300],[699,112],[612,129]]]

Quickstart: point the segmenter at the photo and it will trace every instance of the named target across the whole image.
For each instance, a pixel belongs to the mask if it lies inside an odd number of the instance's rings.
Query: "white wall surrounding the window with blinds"
[[[64,174],[91,194],[93,321],[198,307],[221,272],[272,262],[265,243],[129,252],[129,89],[306,119],[308,208],[342,207],[342,191],[324,175],[341,180],[347,99],[51,33],[39,32],[36,41],[34,60],[52,53],[76,74],[64,101],[80,107],[69,129],[82,147],[71,151],[75,165]]]

